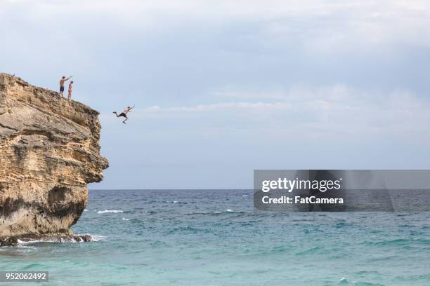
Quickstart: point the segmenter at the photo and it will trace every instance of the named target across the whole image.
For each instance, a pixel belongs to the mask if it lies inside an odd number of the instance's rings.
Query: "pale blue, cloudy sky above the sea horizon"
[[[429,169],[429,27],[417,0],[0,0],[0,71],[74,76],[110,162],[90,189],[251,189]]]

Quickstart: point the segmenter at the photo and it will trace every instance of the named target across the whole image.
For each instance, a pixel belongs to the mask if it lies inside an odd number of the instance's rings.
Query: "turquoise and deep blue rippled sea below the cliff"
[[[430,285],[430,212],[254,213],[252,191],[110,190],[90,191],[73,229],[100,240],[1,248],[0,270],[49,271],[38,285]]]

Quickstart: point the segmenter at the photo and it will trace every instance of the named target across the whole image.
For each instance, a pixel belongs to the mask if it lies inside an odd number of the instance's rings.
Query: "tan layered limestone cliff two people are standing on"
[[[70,234],[108,163],[98,111],[0,74],[0,237]]]

